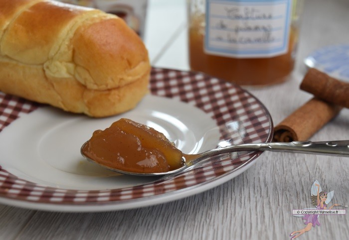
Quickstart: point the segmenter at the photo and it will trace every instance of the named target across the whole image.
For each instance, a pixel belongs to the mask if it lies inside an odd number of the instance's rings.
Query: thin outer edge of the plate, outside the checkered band
[[[153,68],[152,76],[156,76],[157,73],[189,73],[191,76],[204,76],[205,78],[213,79],[213,77],[207,76],[202,73],[195,72],[186,72],[186,71],[178,71],[172,69],[160,69]],[[224,82],[222,80],[218,80],[219,82]],[[226,83],[226,82],[224,82]],[[264,105],[252,94],[247,92],[246,90],[241,89],[239,86],[231,83],[226,83],[231,86],[231,88],[235,88],[237,90],[242,91],[244,94],[247,94],[249,99],[253,99],[259,107],[264,111],[265,116],[269,121],[269,132],[266,137],[266,142],[271,141],[273,134],[273,123],[270,117],[268,110],[264,107]],[[181,101],[181,100],[179,100]],[[1,110],[1,109],[0,109]],[[234,168],[231,172],[226,172],[220,176],[205,180],[201,183],[195,184],[193,186],[184,187],[182,189],[177,189],[172,192],[162,193],[160,195],[146,196],[141,198],[134,199],[125,199],[118,201],[106,201],[106,202],[84,202],[80,204],[76,203],[49,203],[49,202],[33,202],[22,199],[13,198],[13,196],[7,196],[6,194],[0,193],[0,202],[7,205],[24,207],[29,209],[39,209],[39,210],[47,210],[47,211],[65,211],[65,212],[93,212],[93,211],[110,211],[110,210],[122,210],[122,209],[130,209],[130,208],[138,208],[145,207],[160,203],[165,203],[173,200],[177,200],[180,198],[184,198],[187,196],[191,196],[193,194],[197,194],[208,190],[212,187],[218,186],[233,177],[239,175],[247,168],[249,168],[255,161],[261,152],[251,153],[248,160],[244,161],[237,168]]]

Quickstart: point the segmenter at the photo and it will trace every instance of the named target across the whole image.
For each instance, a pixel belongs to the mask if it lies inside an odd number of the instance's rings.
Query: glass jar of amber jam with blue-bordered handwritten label
[[[292,72],[303,0],[188,0],[191,70],[239,85]]]

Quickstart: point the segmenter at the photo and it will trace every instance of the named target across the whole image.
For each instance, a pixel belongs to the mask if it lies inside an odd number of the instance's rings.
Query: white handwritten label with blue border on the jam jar
[[[205,52],[256,58],[288,50],[292,0],[206,0]]]

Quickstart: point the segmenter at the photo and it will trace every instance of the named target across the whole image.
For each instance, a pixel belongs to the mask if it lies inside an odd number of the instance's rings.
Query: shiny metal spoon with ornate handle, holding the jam
[[[82,152],[82,148],[86,142],[81,147],[81,155],[87,160],[95,162],[93,159],[88,158]],[[307,153],[307,154],[319,154],[319,155],[333,155],[333,156],[344,156],[349,157],[349,140],[339,140],[339,141],[322,141],[322,142],[312,142],[312,141],[293,141],[293,142],[267,142],[267,143],[246,143],[239,145],[230,145],[226,147],[217,147],[211,150],[207,150],[197,154],[183,154],[184,164],[181,168],[175,169],[169,172],[161,173],[138,173],[138,172],[128,172],[115,168],[110,168],[108,166],[99,164],[102,167],[108,168],[115,172],[122,174],[131,174],[138,176],[163,176],[173,173],[178,173],[186,169],[191,169],[195,164],[207,160],[210,157],[238,152],[238,151],[275,151],[275,152],[297,152],[297,153]]]

